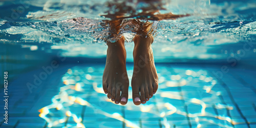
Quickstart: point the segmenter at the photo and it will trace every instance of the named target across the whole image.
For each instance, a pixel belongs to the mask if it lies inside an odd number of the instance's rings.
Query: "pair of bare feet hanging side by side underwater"
[[[158,89],[158,75],[155,67],[152,43],[153,36],[134,37],[134,71],[132,77],[133,102],[144,104]],[[128,101],[129,79],[126,71],[126,50],[124,37],[116,42],[106,42],[108,51],[102,78],[105,94],[116,104]]]

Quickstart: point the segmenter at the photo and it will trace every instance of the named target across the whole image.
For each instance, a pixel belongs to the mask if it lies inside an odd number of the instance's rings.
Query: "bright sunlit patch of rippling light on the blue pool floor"
[[[159,118],[161,125],[165,127],[175,125],[233,127],[245,123],[234,121],[227,114],[221,115],[210,111],[234,110],[232,105],[220,101],[222,92],[214,88],[220,85],[208,75],[207,71],[160,67],[158,92],[146,104],[139,106],[132,102],[131,87],[129,102],[126,105],[115,104],[108,99],[102,89],[102,72],[102,67],[73,67],[62,76],[64,86],[59,88],[58,95],[51,99],[52,104],[39,110],[39,116],[47,121],[48,127],[86,127],[90,123],[90,118],[97,116],[120,121],[127,127],[141,127],[134,122],[134,119],[151,120],[151,118]],[[127,68],[127,72],[131,79],[131,66]],[[125,117],[121,112],[121,106],[127,112]],[[85,112],[78,111],[84,107],[86,107]],[[118,107],[120,108],[115,109]],[[138,116],[129,117],[129,113],[133,112]],[[88,116],[89,118],[86,118]],[[177,121],[176,117],[181,119]]]

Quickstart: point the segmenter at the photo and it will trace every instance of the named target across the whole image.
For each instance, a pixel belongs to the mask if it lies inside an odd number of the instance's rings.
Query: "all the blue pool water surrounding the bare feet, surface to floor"
[[[0,127],[256,127],[255,1],[159,1],[159,13],[189,16],[151,21],[159,89],[139,106],[131,85],[126,105],[102,89],[109,28],[100,23],[120,11],[108,3],[0,1]],[[119,3],[134,14],[150,6]],[[121,31],[130,83],[133,27]]]

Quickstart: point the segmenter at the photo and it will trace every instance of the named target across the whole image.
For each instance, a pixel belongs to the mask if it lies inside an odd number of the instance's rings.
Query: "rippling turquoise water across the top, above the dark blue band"
[[[102,19],[108,19],[100,16],[110,10],[104,4],[106,2],[112,1],[1,2],[0,11],[4,12],[0,14],[1,42],[20,44],[23,47],[33,46],[32,50],[49,52],[52,49],[61,49],[63,54],[72,57],[104,57],[106,48],[100,40],[105,38],[105,32],[109,28],[103,28],[99,23]],[[161,13],[172,12],[190,16],[154,22],[156,37],[153,49],[157,56],[156,62],[194,59],[225,61],[227,57],[238,54],[242,54],[242,58],[251,58],[254,55],[255,44],[250,45],[250,50],[243,54],[243,45],[255,41],[254,1],[201,0],[163,3],[166,10],[161,10]],[[134,8],[140,12],[142,7],[137,4]],[[76,18],[77,22],[72,18]],[[134,34],[129,33],[129,29],[123,32],[128,42],[127,51],[132,52],[133,43],[130,42]],[[41,44],[50,44],[51,47],[38,48]],[[132,62],[132,59],[132,54],[127,54],[127,61]]]

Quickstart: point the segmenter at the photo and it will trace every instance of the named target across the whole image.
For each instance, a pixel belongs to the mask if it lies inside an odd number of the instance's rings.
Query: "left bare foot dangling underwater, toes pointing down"
[[[124,37],[116,42],[106,42],[108,51],[102,77],[105,94],[116,104],[126,104],[128,100],[129,79],[126,72],[126,51]],[[121,93],[121,95],[120,95]]]

